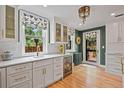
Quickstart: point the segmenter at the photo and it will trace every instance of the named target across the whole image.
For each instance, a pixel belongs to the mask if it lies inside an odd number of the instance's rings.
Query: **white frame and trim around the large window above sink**
[[[47,23],[48,23],[47,24],[47,29],[46,30],[42,29],[43,32],[42,32],[42,37],[41,38],[43,39],[43,51],[39,52],[39,54],[42,55],[42,54],[47,53],[47,46],[48,46],[48,41],[49,41],[48,34],[49,34],[49,30],[50,30],[49,20],[47,18],[39,16],[35,13],[29,12],[29,11],[26,11],[26,10],[23,10],[23,9],[19,9],[19,13],[18,13],[19,14],[19,34],[18,34],[19,37],[18,37],[18,42],[20,42],[19,46],[21,46],[20,49],[22,50],[21,51],[22,56],[34,56],[34,55],[37,54],[37,52],[27,52],[27,53],[25,52],[26,35],[25,35],[24,26],[22,25],[22,21],[21,21],[23,13],[31,14],[33,16],[37,16],[37,17],[40,17],[42,19],[47,20]]]

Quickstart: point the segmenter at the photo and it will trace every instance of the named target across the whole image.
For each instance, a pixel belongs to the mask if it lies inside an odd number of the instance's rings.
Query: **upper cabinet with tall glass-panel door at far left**
[[[0,5],[0,39],[16,39],[17,14],[16,6]]]

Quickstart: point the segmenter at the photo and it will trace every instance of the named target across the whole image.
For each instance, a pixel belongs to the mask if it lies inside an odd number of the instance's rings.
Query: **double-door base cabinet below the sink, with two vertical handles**
[[[53,59],[33,63],[33,87],[47,87],[53,81]]]

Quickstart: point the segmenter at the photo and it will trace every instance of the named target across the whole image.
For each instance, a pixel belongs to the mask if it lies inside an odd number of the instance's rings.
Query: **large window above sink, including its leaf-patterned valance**
[[[20,32],[22,33],[22,46],[25,53],[43,52],[46,46],[46,33],[49,22],[46,18],[20,10]]]

